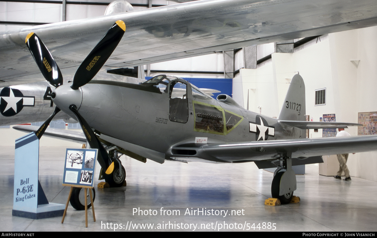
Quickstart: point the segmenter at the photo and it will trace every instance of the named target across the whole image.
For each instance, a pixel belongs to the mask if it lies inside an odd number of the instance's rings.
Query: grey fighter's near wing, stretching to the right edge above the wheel
[[[280,153],[286,153],[291,158],[305,159],[331,154],[374,151],[377,150],[377,135],[210,143],[198,148],[173,148],[173,151],[182,154],[183,150],[195,150],[197,156],[203,159],[232,163],[271,160],[279,158]]]

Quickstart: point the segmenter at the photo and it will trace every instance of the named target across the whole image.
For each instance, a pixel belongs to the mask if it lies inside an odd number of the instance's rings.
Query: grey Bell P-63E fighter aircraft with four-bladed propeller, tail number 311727
[[[43,135],[60,110],[76,118],[90,147],[99,150],[100,176],[111,186],[121,186],[126,177],[118,153],[107,153],[116,148],[142,161],[255,162],[259,168],[277,167],[271,194],[289,203],[296,190],[292,165],[322,162],[322,155],[377,150],[377,136],[305,138],[306,129],[360,124],[304,121],[305,84],[298,74],[278,119],[245,110],[228,95],[215,100],[174,76],[158,75],[141,84],[92,80],[124,31],[124,22],[116,21],[78,67],[73,81],[64,84],[42,40],[33,32],[25,40],[54,87],[49,96],[55,111],[36,135]]]

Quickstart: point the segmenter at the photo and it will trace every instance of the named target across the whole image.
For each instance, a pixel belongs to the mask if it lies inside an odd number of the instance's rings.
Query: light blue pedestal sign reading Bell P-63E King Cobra
[[[12,215],[31,219],[59,217],[64,204],[49,203],[38,180],[39,140],[34,133],[15,141]]]

